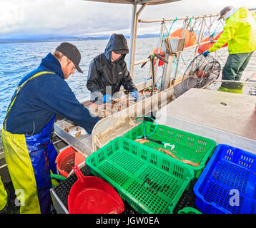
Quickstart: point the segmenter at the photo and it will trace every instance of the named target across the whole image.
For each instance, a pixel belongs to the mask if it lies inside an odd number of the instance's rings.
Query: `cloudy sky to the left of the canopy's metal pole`
[[[132,6],[81,0],[1,0],[0,36],[77,34],[129,27]],[[128,11],[127,11],[128,9]]]

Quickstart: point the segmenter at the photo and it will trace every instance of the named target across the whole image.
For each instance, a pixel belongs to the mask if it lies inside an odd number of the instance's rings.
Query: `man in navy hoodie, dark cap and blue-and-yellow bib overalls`
[[[56,150],[50,137],[56,115],[92,133],[100,120],[89,113],[65,79],[79,68],[81,55],[71,43],[61,43],[40,66],[21,79],[2,130],[4,156],[21,213],[50,213],[50,172],[56,173]]]

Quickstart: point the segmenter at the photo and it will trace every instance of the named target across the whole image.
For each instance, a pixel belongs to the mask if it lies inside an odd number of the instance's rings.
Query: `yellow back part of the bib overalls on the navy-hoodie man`
[[[11,134],[3,128],[2,141],[11,181],[21,204],[20,213],[40,213],[36,180],[29,151],[26,149],[25,135]]]

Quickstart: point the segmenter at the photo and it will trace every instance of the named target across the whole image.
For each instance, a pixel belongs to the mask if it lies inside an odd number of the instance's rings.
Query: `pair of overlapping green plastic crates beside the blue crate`
[[[134,141],[142,136],[150,143]],[[179,160],[158,151],[159,147]],[[215,147],[213,140],[144,122],[92,153],[86,163],[93,175],[109,182],[137,212],[167,214],[200,176]]]

